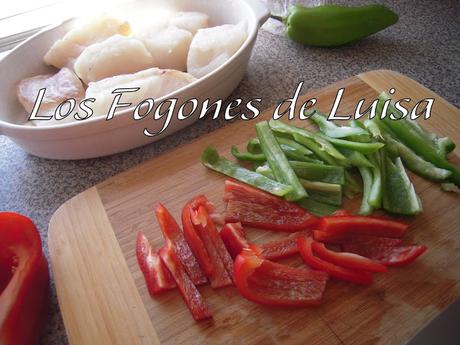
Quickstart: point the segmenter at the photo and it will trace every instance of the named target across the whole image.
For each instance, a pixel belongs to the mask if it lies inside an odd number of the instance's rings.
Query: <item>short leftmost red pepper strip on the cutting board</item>
[[[151,296],[174,289],[177,285],[160,256],[142,232],[136,237],[136,257]]]

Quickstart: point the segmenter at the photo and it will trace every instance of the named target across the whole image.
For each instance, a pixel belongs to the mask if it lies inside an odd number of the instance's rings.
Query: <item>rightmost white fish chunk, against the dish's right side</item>
[[[223,65],[247,38],[246,22],[200,29],[193,37],[187,56],[187,72],[196,78]]]

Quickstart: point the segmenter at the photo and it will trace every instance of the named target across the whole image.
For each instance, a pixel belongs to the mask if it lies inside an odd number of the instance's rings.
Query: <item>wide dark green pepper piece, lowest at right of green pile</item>
[[[406,174],[401,159],[393,162],[384,153],[383,208],[391,213],[413,216],[422,211],[414,185]]]

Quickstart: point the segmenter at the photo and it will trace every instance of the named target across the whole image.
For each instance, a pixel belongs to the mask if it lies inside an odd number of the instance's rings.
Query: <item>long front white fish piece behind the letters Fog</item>
[[[168,69],[149,68],[133,74],[119,75],[89,83],[86,98],[95,98],[91,108],[95,116],[107,115],[119,88],[140,88],[136,92],[123,93],[120,103],[132,103],[135,107],[147,98],[154,100],[168,95],[196,79],[184,72]],[[120,108],[126,110],[128,108]]]

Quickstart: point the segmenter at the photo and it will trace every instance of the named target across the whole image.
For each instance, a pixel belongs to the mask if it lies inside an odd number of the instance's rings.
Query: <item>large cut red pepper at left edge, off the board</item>
[[[48,263],[32,221],[0,213],[0,344],[37,344],[49,304]]]

